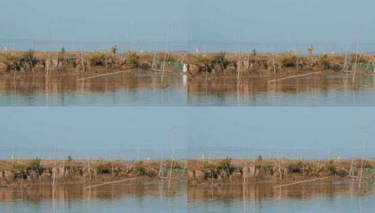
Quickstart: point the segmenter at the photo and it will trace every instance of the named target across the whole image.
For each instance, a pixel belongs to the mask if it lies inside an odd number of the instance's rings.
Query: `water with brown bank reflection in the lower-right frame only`
[[[357,183],[315,183],[273,188],[253,184],[189,188],[189,212],[372,212],[375,184],[358,193]]]

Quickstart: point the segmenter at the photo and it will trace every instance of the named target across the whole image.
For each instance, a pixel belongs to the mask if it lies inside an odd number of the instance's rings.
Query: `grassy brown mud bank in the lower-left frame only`
[[[0,186],[100,184],[106,181],[184,181],[182,160],[0,160]]]

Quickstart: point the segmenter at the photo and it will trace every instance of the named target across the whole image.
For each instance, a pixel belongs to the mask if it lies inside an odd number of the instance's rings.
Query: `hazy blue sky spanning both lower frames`
[[[0,158],[13,151],[6,147],[55,146],[101,155],[151,149],[153,157],[173,147],[180,156],[177,150],[200,156],[229,147],[221,153],[343,150],[352,157],[366,149],[375,157],[373,114],[374,107],[0,107]]]

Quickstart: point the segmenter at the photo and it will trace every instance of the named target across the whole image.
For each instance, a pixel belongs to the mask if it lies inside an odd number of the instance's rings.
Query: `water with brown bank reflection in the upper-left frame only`
[[[0,79],[0,106],[186,106],[182,75],[19,76]],[[186,83],[186,82],[185,82]],[[46,86],[48,85],[48,86]]]

